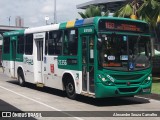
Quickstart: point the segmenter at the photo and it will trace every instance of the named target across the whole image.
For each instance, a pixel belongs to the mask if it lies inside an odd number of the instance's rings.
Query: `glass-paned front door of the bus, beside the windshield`
[[[94,37],[82,36],[82,91],[94,93]]]

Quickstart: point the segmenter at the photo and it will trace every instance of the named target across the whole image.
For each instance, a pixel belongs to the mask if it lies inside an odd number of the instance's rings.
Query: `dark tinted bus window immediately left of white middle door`
[[[33,34],[26,35],[25,54],[32,55],[33,53]]]

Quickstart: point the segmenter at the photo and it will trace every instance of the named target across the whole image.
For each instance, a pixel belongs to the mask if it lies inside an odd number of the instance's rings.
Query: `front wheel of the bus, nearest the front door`
[[[67,82],[65,84],[65,89],[66,89],[67,97],[69,99],[73,100],[76,98],[75,86],[74,86],[73,79],[69,78],[69,80],[67,80]]]

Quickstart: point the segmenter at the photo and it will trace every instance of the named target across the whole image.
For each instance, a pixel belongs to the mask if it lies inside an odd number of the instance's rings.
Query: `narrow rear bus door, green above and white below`
[[[15,77],[15,74],[16,74],[16,64],[15,64],[15,61],[16,61],[16,39],[17,37],[16,36],[12,36],[11,37],[11,64],[10,64],[10,68],[11,68],[11,77]]]

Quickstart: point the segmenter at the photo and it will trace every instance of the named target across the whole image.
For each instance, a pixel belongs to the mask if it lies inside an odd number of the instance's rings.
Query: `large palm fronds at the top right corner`
[[[129,17],[136,15],[140,20],[144,20],[153,28],[158,22],[160,16],[160,1],[159,0],[142,0],[140,6],[138,0],[133,0],[115,12],[114,16]]]

